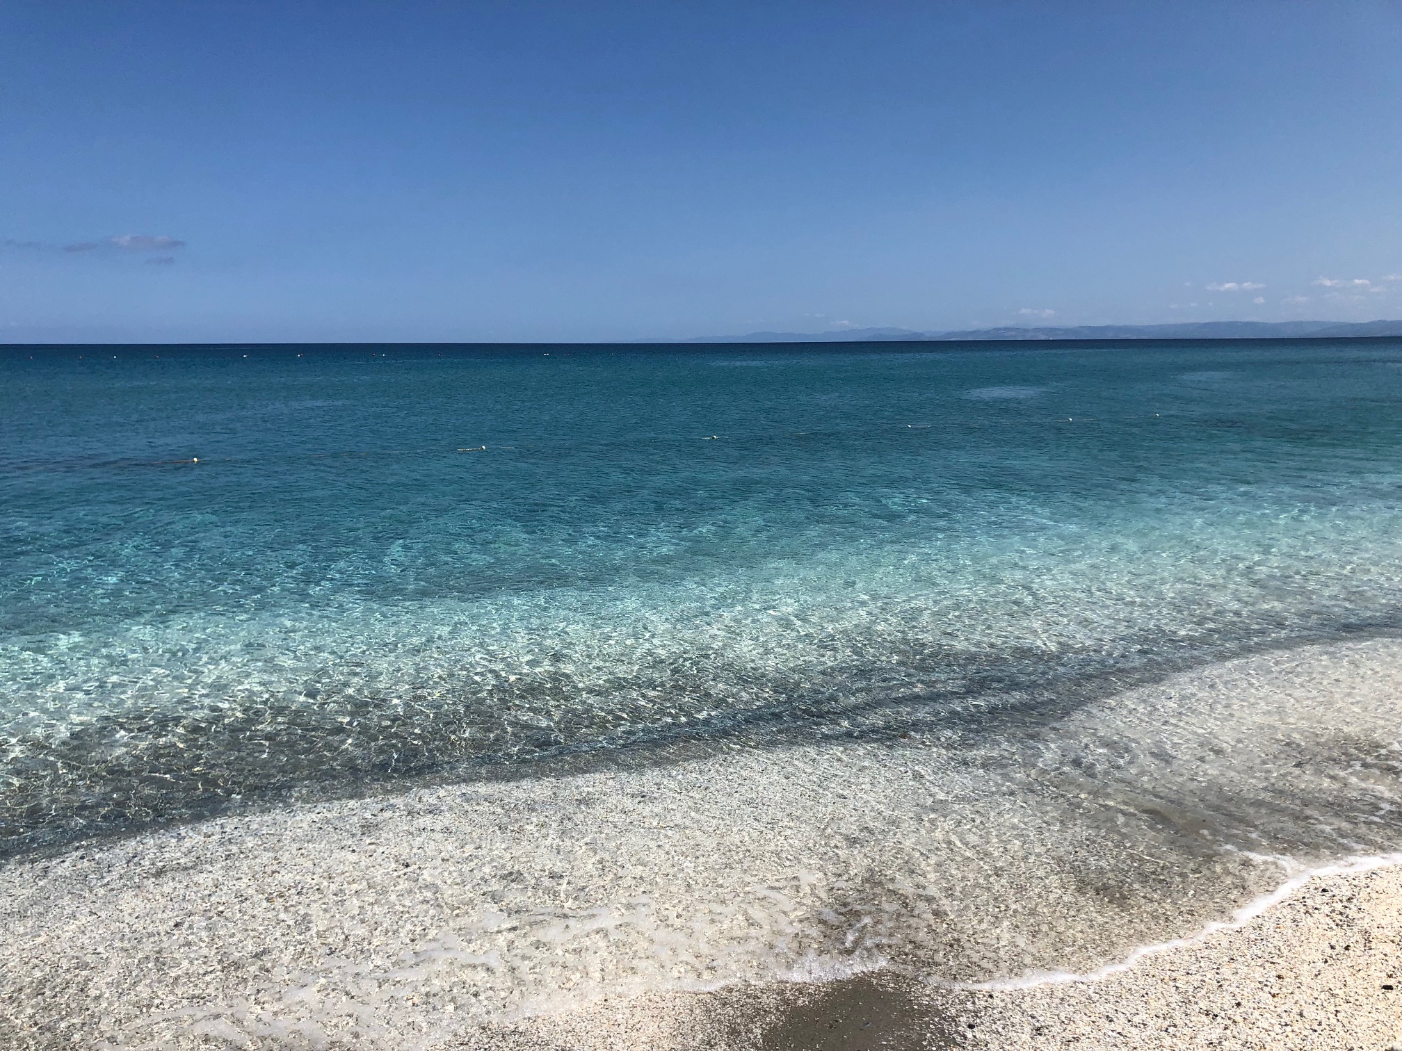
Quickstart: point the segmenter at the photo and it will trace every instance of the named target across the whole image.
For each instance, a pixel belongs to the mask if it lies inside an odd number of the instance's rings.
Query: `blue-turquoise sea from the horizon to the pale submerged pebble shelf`
[[[990,705],[1016,734],[1402,626],[1402,342],[11,348],[0,376],[6,852]]]

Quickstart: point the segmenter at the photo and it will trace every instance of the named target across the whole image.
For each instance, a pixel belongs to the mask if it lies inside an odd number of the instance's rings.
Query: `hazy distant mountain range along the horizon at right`
[[[841,332],[750,332],[743,336],[659,339],[659,343],[875,343],[928,339],[1347,339],[1402,336],[1402,321],[1196,321],[1179,325],[1074,325],[1070,328],[972,328],[914,332],[908,328],[850,328]]]

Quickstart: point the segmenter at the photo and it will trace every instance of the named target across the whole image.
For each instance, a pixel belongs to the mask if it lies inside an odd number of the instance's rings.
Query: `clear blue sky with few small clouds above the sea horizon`
[[[6,342],[1380,317],[1399,3],[0,6]]]

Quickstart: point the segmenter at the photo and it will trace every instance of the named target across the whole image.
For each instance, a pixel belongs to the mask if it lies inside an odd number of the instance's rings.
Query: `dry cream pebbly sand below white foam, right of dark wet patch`
[[[1241,930],[1098,982],[966,1001],[970,1047],[1394,1048],[1402,870],[1314,879]],[[962,1019],[960,1019],[962,1020]],[[958,1031],[958,1027],[956,1027]]]

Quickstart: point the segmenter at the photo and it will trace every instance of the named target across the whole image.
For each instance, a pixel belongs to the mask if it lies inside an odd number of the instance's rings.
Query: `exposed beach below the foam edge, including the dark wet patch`
[[[956,989],[890,973],[639,998],[460,1047],[578,1051],[1395,1051],[1402,869],[1315,876],[1239,928],[1094,980]]]

